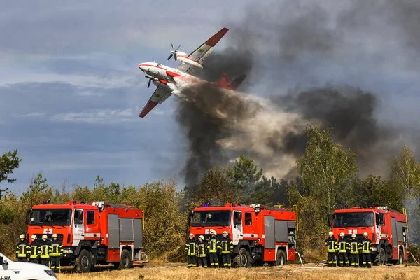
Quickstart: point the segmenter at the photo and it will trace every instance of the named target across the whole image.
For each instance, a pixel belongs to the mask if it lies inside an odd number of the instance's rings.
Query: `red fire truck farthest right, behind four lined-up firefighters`
[[[408,233],[405,209],[403,212],[388,207],[337,209],[332,232],[337,239],[341,232],[344,232],[346,239],[355,233],[358,241],[367,232],[373,244],[374,265],[384,265],[386,262],[402,264],[407,260]]]

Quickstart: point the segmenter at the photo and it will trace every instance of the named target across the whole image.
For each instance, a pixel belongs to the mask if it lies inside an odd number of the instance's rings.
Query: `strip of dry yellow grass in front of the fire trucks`
[[[109,267],[97,267],[96,272],[90,274],[72,274],[64,272],[58,275],[59,280],[140,280],[140,279],[233,279],[233,280],[363,280],[363,279],[419,279],[420,267],[414,266],[381,266],[367,268],[329,268],[316,267],[314,264],[288,265],[284,267],[252,267],[239,269],[204,269],[186,268],[185,264],[168,263],[151,265],[149,267],[135,267],[122,271],[111,270]]]

